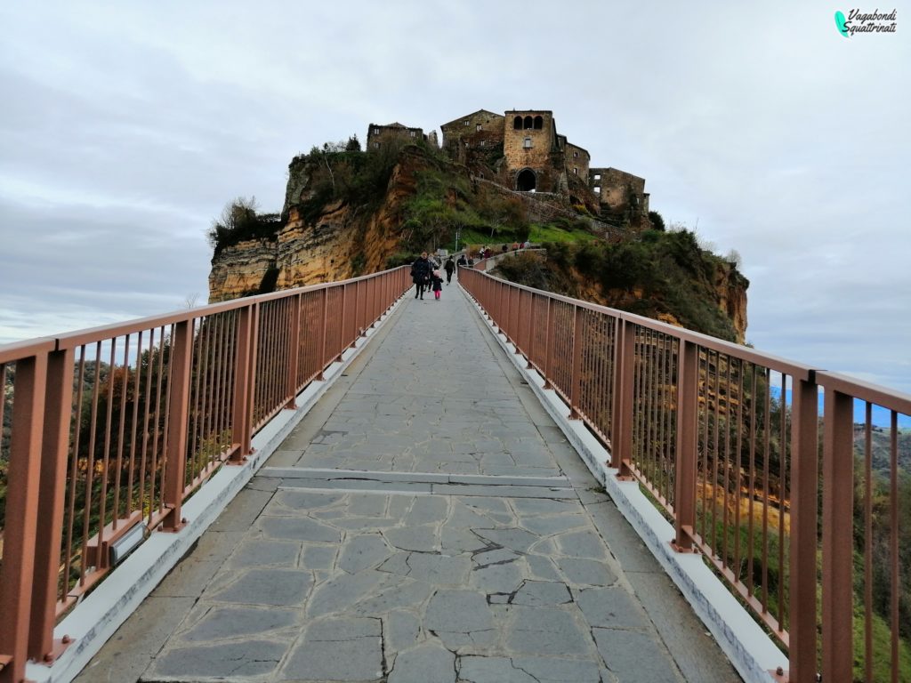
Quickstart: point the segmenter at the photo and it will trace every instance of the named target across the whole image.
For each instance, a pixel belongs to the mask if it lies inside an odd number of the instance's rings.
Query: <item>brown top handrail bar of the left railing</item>
[[[42,348],[41,350],[66,351],[67,349],[75,349],[83,344],[103,342],[109,339],[114,339],[115,337],[123,336],[125,334],[134,334],[139,331],[164,327],[175,322],[191,321],[205,317],[207,315],[215,315],[216,313],[223,313],[225,311],[233,311],[236,309],[245,308],[256,303],[262,303],[264,301],[283,299],[285,297],[291,297],[310,291],[324,290],[330,287],[336,287],[338,285],[348,284],[359,280],[369,280],[378,275],[382,275],[383,273],[394,272],[395,270],[400,270],[404,267],[405,266],[398,266],[397,268],[392,268],[389,270],[380,270],[379,272],[371,273],[369,275],[362,275],[350,280],[321,282],[319,284],[307,285],[305,287],[296,287],[293,290],[281,290],[270,292],[269,294],[257,294],[256,296],[244,297],[241,299],[232,299],[230,301],[210,303],[205,306],[200,306],[199,308],[186,309],[183,311],[171,311],[169,313],[152,315],[146,318],[134,318],[132,320],[123,322],[113,322],[108,325],[100,325],[98,327],[90,327],[83,330],[67,332],[66,334],[59,334],[51,338],[41,337],[37,339],[25,340],[23,342],[14,342],[12,344],[2,344],[0,345],[0,359],[6,358],[10,353],[13,353],[15,355],[15,358],[22,358],[24,355],[31,355],[23,354],[21,350],[28,350],[28,347],[30,345],[41,342],[42,340],[49,339],[50,348]],[[10,360],[15,360],[15,358],[11,358]]]

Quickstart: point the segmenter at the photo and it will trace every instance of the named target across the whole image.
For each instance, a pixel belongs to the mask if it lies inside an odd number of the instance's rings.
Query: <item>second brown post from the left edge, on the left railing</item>
[[[53,661],[67,645],[63,641],[55,642],[54,624],[67,489],[69,423],[73,413],[73,358],[72,349],[51,352],[47,358],[41,490],[38,494],[41,515],[38,515],[36,529],[32,625],[28,637],[28,655],[38,662]]]

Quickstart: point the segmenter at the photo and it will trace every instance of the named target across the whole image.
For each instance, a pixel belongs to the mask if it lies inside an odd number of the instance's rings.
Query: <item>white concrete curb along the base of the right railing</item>
[[[463,288],[463,291],[466,291]],[[696,615],[708,627],[722,651],[747,683],[771,683],[773,671],[788,668],[787,656],[775,647],[762,627],[741,607],[736,598],[712,574],[699,555],[679,554],[670,547],[674,528],[649,499],[640,491],[637,482],[621,482],[618,471],[609,467],[610,454],[579,420],[569,420],[569,407],[557,392],[544,389],[544,379],[534,370],[526,369],[525,357],[516,353],[516,347],[506,341],[506,336],[486,318],[476,301],[466,291],[487,328],[518,371],[527,379],[528,386],[548,411],[559,428],[566,434],[591,474],[604,486],[620,513],[649,547],[651,554],[677,585]]]

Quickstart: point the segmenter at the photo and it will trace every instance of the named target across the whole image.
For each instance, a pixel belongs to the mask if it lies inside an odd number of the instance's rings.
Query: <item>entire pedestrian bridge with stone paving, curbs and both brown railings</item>
[[[911,397],[476,270],[409,289],[0,347],[0,681],[907,680]]]

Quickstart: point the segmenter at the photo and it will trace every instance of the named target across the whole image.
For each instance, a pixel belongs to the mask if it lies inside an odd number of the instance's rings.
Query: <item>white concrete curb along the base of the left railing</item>
[[[238,492],[253,478],[261,465],[300,423],[304,415],[341,376],[354,358],[389,320],[404,296],[386,312],[366,337],[357,340],[355,348],[343,353],[341,362],[334,362],[323,372],[322,382],[311,382],[295,399],[297,409],[281,411],[253,437],[256,449],[246,463],[222,467],[200,491],[183,505],[183,515],[189,520],[177,534],[152,534],[148,540],[124,560],[105,581],[54,629],[54,637],[65,635],[75,642],[56,659],[51,667],[29,663],[26,678],[35,683],[69,683],[86,667],[98,650],[149,593],[158,586],[169,571],[187,554],[202,533],[218,519],[221,512]]]

